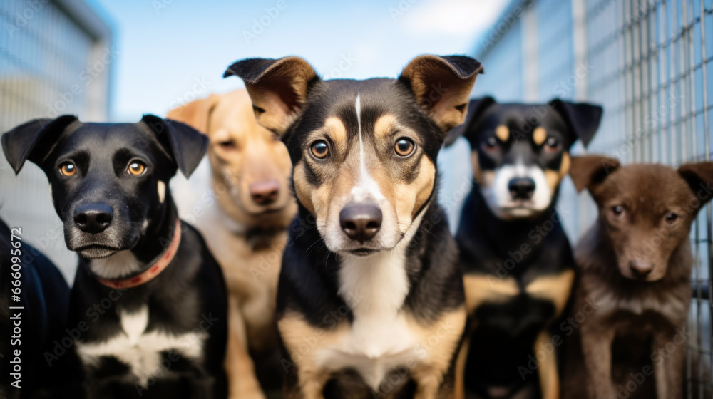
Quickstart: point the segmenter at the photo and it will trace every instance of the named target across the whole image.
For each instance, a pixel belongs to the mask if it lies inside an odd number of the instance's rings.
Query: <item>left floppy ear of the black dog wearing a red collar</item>
[[[65,128],[77,120],[74,115],[56,119],[34,119],[2,135],[7,162],[17,175],[26,160],[41,164]]]

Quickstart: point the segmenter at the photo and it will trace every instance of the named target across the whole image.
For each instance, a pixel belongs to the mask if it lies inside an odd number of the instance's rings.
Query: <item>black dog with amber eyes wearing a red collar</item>
[[[68,327],[88,398],[225,397],[227,334],[220,268],[168,190],[207,138],[145,115],[135,124],[32,120],[2,137],[15,172],[25,160],[51,184],[68,249],[80,261]]]

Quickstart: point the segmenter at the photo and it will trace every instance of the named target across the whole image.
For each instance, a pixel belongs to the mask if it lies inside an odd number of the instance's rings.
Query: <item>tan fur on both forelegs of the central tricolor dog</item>
[[[416,399],[452,398],[455,387],[441,388],[443,375],[451,366],[453,352],[461,338],[466,323],[463,309],[443,314],[438,321],[424,326],[409,314],[409,330],[419,337],[421,347],[426,349],[424,358],[414,358],[409,374],[416,381]],[[320,352],[339,346],[349,334],[349,322],[342,321],[330,329],[314,328],[302,315],[286,314],[278,322],[282,340],[289,357],[297,368],[298,385],[304,399],[322,399],[322,390],[332,373],[319,365]],[[445,331],[445,333],[444,333]],[[407,366],[407,365],[404,365]]]

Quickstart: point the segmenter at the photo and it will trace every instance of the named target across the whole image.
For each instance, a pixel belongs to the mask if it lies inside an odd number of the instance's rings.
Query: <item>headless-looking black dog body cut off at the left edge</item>
[[[68,384],[71,359],[43,356],[62,338],[69,286],[23,233],[0,220],[0,397],[76,398]]]

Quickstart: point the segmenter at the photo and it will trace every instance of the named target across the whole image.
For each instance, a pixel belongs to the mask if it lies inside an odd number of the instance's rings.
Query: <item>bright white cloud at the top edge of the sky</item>
[[[401,0],[389,12],[409,33],[472,36],[493,24],[507,4],[506,0]]]

